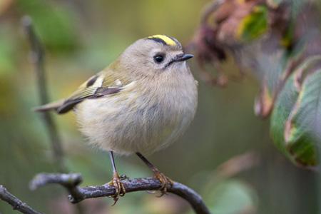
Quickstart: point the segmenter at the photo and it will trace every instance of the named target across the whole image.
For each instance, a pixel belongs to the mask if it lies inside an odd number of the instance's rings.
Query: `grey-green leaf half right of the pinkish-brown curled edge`
[[[316,146],[321,143],[321,69],[303,81],[285,124],[285,143],[292,156],[303,165],[316,165]]]

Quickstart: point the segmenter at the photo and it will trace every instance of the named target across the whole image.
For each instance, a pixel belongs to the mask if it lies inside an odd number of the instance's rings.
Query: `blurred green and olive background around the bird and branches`
[[[182,44],[199,24],[207,0],[177,1],[0,1],[0,184],[42,213],[193,213],[175,195],[128,193],[68,202],[60,185],[29,190],[41,172],[58,172],[40,113],[30,44],[21,29],[29,15],[46,46],[46,86],[50,101],[68,96],[108,66],[126,47],[146,36],[165,34]],[[188,53],[193,54],[193,53]],[[196,75],[195,61],[189,62]],[[224,71],[237,69],[233,61]],[[290,163],[273,146],[268,119],[254,116],[258,81],[247,73],[225,88],[199,80],[193,123],[173,146],[148,160],[171,179],[198,192],[212,213],[318,213],[317,176]],[[108,154],[86,145],[73,113],[52,113],[68,172],[83,175],[81,185],[102,185],[112,176]],[[151,177],[136,156],[116,157],[118,173]],[[19,213],[0,200],[0,213]]]

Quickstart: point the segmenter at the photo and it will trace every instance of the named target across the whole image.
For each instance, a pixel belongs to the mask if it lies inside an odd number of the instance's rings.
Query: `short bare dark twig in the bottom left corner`
[[[19,198],[16,198],[16,196],[9,193],[9,191],[6,190],[3,185],[0,185],[0,198],[1,200],[6,201],[6,203],[9,203],[9,205],[11,205],[14,210],[19,210],[21,213],[41,214],[33,208],[29,207],[29,205],[26,205],[26,203],[23,203],[21,200],[19,200]]]

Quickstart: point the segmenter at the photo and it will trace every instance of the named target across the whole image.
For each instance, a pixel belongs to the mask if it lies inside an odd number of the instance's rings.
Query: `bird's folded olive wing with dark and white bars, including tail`
[[[53,110],[56,113],[66,113],[86,98],[100,98],[108,94],[118,93],[128,83],[129,81],[126,81],[126,78],[115,71],[101,71],[95,76],[91,76],[88,81],[81,84],[67,98],[33,108],[33,111]]]

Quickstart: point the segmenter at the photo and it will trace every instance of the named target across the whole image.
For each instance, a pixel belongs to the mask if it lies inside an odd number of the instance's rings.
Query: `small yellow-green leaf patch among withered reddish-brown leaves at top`
[[[267,31],[267,6],[258,5],[245,16],[235,31],[235,38],[240,41],[251,41]]]

